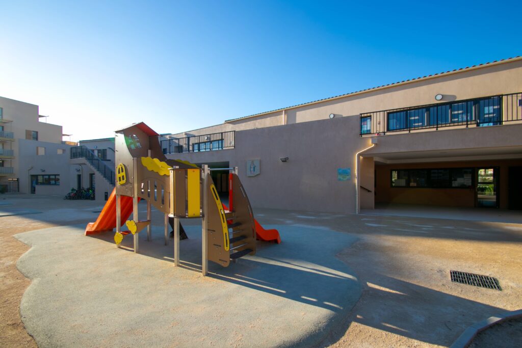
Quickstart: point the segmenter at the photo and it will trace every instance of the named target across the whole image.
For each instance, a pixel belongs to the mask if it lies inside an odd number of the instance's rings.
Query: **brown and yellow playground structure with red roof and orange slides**
[[[123,238],[133,235],[134,252],[139,252],[138,234],[147,229],[151,241],[151,207],[164,214],[165,245],[169,243],[169,217],[174,219],[174,266],[180,262],[180,219],[201,219],[202,273],[208,260],[228,267],[245,255],[256,253],[256,239],[281,243],[277,230],[265,230],[255,219],[238,177],[229,170],[229,207],[223,205],[207,165],[201,168],[186,161],[167,159],[159,134],[145,123],[116,131],[116,185],[96,222],[89,223],[85,235],[112,231],[120,247]],[[138,219],[138,201],[147,201],[147,219]],[[132,220],[127,220],[131,213]],[[122,231],[125,221],[128,231]]]

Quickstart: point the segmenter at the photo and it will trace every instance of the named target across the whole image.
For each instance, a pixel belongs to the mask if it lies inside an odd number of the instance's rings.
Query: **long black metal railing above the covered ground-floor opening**
[[[522,121],[522,93],[403,107],[360,114],[360,136]]]

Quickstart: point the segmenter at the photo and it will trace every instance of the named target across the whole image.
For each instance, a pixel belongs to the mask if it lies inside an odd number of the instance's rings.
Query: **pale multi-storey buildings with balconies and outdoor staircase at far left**
[[[114,139],[112,147],[111,139],[85,141],[93,152],[63,141],[62,126],[45,119],[38,105],[0,97],[0,193],[65,196],[92,187],[104,199],[114,187]]]

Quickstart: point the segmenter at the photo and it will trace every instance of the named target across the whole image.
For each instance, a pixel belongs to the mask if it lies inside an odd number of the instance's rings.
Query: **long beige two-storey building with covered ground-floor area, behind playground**
[[[229,119],[161,146],[169,158],[238,166],[255,207],[522,209],[521,134],[515,57]],[[213,175],[226,191],[226,172]]]

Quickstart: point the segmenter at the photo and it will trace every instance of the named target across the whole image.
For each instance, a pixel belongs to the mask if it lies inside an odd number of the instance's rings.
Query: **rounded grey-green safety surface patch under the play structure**
[[[272,225],[280,245],[200,274],[201,230],[185,226],[182,267],[162,227],[140,236],[140,255],[113,233],[83,235],[85,226],[21,233],[31,245],[17,263],[32,280],[20,312],[40,347],[311,346],[322,341],[361,295],[353,271],[335,255],[356,237],[321,227]],[[124,246],[131,246],[127,236]]]

